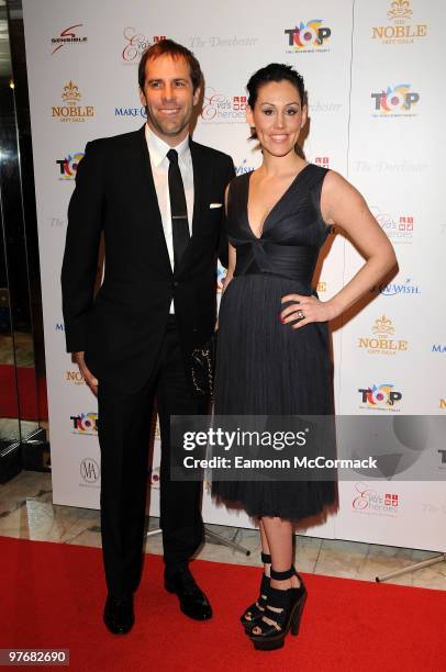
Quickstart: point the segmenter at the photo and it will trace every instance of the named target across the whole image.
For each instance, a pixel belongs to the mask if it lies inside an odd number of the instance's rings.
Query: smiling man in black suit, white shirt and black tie
[[[161,41],[144,53],[138,80],[147,124],[88,143],[62,271],[67,351],[98,395],[104,621],[114,634],[134,623],[155,400],[165,586],[191,618],[212,615],[188,567],[203,539],[201,488],[170,480],[169,422],[208,410],[193,393],[188,357],[214,329],[224,191],[234,177],[227,155],[189,137],[202,86],[194,56]],[[102,232],[105,271],[94,298]]]

